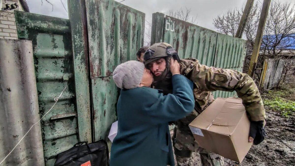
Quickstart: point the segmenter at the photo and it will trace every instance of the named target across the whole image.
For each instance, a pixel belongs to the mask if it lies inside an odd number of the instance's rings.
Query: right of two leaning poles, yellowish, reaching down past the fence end
[[[250,67],[248,71],[248,75],[250,77],[254,77],[255,69],[256,69],[256,64],[257,64],[257,59],[260,51],[260,45],[261,45],[261,40],[262,40],[262,35],[264,31],[264,25],[266,22],[267,14],[268,14],[268,9],[271,4],[271,0],[264,0],[262,9],[261,9],[261,14],[259,18],[259,23],[258,23],[258,28],[257,28],[257,33],[256,33],[256,38],[255,38],[255,43],[254,43],[254,48],[253,48],[253,53],[251,56],[250,60]]]

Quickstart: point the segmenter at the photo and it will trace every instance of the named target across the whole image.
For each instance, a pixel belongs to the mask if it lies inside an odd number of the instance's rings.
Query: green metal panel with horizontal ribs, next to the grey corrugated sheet
[[[40,116],[68,87],[41,121],[45,165],[51,166],[58,153],[78,142],[76,116],[63,116],[77,114],[69,20],[20,11],[15,19],[18,37],[32,40]],[[61,118],[51,120],[56,115]]]

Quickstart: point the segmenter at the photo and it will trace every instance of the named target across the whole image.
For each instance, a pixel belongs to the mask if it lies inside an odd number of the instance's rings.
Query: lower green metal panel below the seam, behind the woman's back
[[[91,79],[94,111],[95,141],[108,140],[108,132],[113,122],[117,121],[116,106],[118,88],[112,76]]]

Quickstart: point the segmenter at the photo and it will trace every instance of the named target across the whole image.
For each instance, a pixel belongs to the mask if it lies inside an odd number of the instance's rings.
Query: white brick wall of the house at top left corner
[[[4,4],[18,3],[19,7],[15,10],[24,11],[19,0],[2,0],[2,7]],[[14,10],[7,10],[0,12],[0,39],[18,39],[17,27],[15,26]]]

